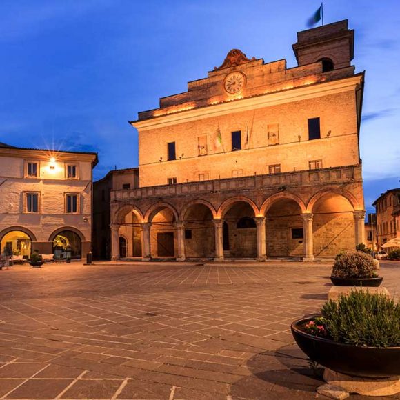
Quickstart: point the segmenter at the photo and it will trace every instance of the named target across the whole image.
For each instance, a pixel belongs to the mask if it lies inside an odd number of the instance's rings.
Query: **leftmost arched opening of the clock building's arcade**
[[[137,210],[128,209],[119,223],[119,237],[126,242],[125,256],[119,252],[120,258],[141,257],[141,216]]]

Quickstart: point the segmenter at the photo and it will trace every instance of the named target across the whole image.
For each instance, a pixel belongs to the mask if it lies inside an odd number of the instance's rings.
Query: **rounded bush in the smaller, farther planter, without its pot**
[[[343,252],[337,254],[332,268],[332,277],[335,278],[372,278],[374,259],[363,252]]]

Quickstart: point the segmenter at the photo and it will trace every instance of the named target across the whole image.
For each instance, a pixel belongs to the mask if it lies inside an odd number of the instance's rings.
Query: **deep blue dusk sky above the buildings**
[[[292,43],[311,0],[2,0],[0,141],[99,152],[94,179],[137,166],[128,120],[186,91],[232,48],[296,66]],[[361,157],[366,206],[400,187],[400,3],[330,0],[348,19],[353,64],[366,70]]]

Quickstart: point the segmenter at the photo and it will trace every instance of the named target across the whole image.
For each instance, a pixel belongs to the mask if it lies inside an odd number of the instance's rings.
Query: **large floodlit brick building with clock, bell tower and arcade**
[[[293,50],[294,68],[231,50],[139,112],[139,188],[111,192],[113,259],[126,226],[143,260],[312,261],[364,242],[354,31],[299,32]]]

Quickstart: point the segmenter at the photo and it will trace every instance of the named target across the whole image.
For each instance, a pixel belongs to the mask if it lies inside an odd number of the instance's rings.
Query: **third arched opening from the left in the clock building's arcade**
[[[205,204],[196,203],[183,215],[186,258],[214,257],[213,215]]]

